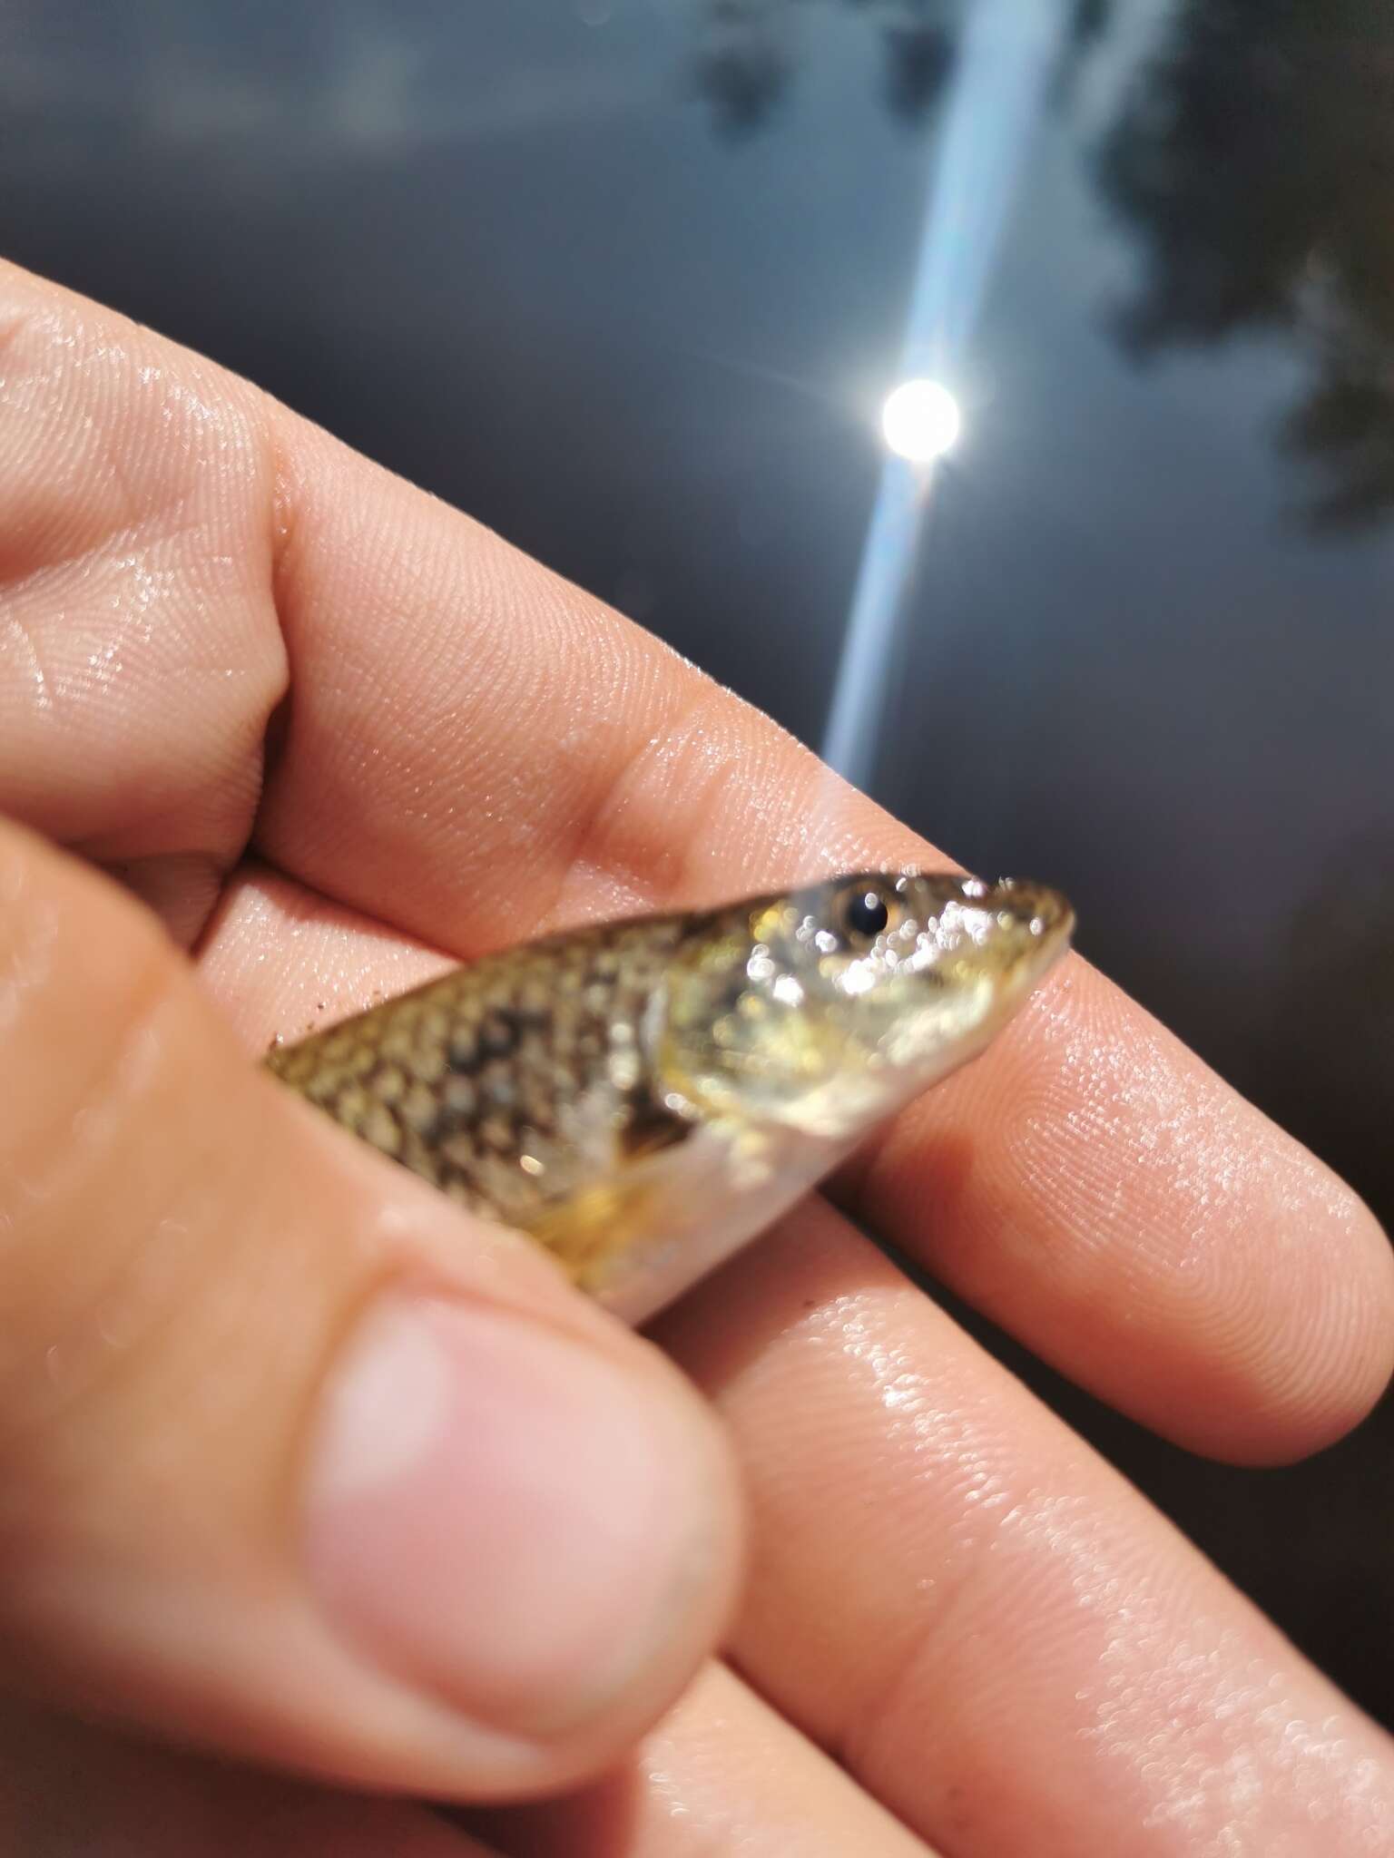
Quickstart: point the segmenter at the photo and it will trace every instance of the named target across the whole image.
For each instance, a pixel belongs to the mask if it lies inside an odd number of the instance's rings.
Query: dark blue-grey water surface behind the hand
[[[1071,890],[1394,1223],[1394,9],[1017,13],[1037,108],[978,113],[1013,186],[967,169],[968,269],[1009,214],[872,788]],[[0,247],[818,741],[972,15],[11,0]],[[1388,1410],[1251,1475],[1048,1390],[1394,1722]]]

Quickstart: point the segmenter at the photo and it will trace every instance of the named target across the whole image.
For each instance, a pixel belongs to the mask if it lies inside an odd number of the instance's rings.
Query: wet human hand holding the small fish
[[[0,812],[167,931],[0,832],[13,1849],[1394,1841],[1388,1739],[848,1217],[1195,1449],[1361,1418],[1383,1236],[1080,961],[840,1210],[660,1323],[734,1440],[751,1579],[738,1676],[626,1758],[732,1581],[699,1403],[247,1053],[442,953],[933,855],[574,587],[19,271],[0,485]],[[517,1799],[621,1758],[472,1830],[353,1793]]]

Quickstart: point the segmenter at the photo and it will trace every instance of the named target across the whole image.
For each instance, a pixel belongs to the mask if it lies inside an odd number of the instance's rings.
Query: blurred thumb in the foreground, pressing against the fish
[[[730,1594],[686,1382],[260,1076],[154,920],[11,827],[0,1059],[7,1681],[457,1799],[613,1760]]]

